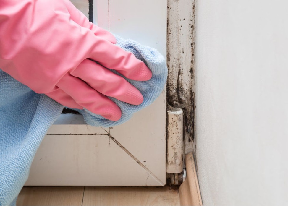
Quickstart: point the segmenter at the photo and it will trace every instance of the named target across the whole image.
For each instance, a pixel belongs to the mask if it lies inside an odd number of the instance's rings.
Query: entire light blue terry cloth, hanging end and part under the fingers
[[[166,83],[165,59],[156,49],[118,36],[117,44],[144,61],[153,75],[145,82],[128,80],[143,94],[141,105],[130,105],[111,98],[122,111],[118,121],[104,119],[87,110],[77,110],[92,126],[109,127],[124,123],[133,113],[156,100]],[[33,92],[0,69],[0,205],[16,204],[36,150],[62,109],[59,103]]]

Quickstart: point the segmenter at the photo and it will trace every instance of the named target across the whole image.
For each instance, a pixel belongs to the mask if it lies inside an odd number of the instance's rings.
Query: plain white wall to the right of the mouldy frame
[[[196,4],[204,205],[288,204],[288,1]]]

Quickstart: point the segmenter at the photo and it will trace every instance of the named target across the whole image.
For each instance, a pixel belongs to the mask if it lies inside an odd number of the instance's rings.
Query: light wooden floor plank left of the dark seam
[[[82,205],[84,186],[23,187],[17,205]]]

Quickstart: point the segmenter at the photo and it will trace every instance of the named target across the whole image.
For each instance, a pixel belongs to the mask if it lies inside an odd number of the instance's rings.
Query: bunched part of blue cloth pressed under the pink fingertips
[[[139,82],[135,80],[130,80],[125,78],[128,82],[134,85],[143,95],[144,100],[140,105],[131,105],[125,102],[121,102],[115,98],[111,98],[121,109],[122,116],[118,121],[110,121],[105,119],[100,115],[93,114],[88,110],[77,110],[81,113],[85,119],[85,121],[92,126],[116,126],[124,123],[129,120],[133,113],[145,108],[150,105],[162,92],[167,79],[167,67],[164,57],[153,48],[148,46],[143,46],[133,40],[125,40],[119,36],[116,36],[118,46],[122,47],[126,51],[132,52],[138,59],[144,61],[145,64],[152,71],[152,78],[145,82]],[[115,70],[111,70],[112,72],[122,76],[117,73]],[[124,76],[122,76],[124,77]]]

